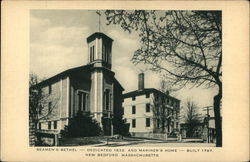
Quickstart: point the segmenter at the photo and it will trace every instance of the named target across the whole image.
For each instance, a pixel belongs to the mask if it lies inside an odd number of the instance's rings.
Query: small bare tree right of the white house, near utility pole
[[[187,101],[184,112],[184,119],[187,125],[187,136],[193,137],[194,131],[202,121],[202,115],[198,112],[197,104],[190,99]]]

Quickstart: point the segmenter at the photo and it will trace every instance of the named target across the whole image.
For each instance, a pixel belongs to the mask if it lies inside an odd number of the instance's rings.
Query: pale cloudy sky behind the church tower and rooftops
[[[130,61],[140,46],[138,34],[129,34],[119,25],[106,25],[101,12],[101,32],[111,37],[112,71],[124,92],[137,89],[138,74],[145,66]],[[69,68],[87,64],[86,38],[98,32],[99,17],[95,10],[31,10],[30,11],[30,73],[49,78]],[[159,88],[160,76],[145,71],[145,88]],[[199,107],[213,104],[216,89],[184,88],[172,95],[185,106],[192,99]],[[203,111],[204,113],[205,111]]]

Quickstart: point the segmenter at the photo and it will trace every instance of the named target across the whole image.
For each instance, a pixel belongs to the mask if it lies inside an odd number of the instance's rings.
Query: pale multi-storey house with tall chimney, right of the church
[[[144,88],[139,74],[138,90],[123,94],[123,118],[134,136],[179,131],[180,100],[154,88]]]

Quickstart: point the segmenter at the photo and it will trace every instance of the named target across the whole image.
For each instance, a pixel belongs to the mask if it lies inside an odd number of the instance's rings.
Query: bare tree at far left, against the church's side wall
[[[44,92],[41,87],[36,86],[39,83],[39,78],[36,74],[30,74],[29,80],[29,116],[35,125],[39,121],[51,119],[57,115],[57,103],[59,98]]]

